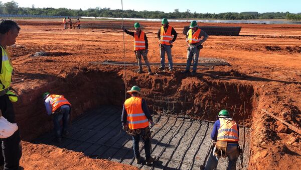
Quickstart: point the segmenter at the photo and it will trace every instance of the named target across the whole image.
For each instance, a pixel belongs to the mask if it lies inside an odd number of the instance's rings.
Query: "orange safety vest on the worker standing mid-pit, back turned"
[[[148,119],[142,110],[142,98],[134,97],[125,100],[127,123],[129,129],[140,129],[148,126]]]

